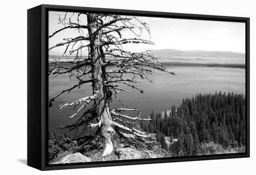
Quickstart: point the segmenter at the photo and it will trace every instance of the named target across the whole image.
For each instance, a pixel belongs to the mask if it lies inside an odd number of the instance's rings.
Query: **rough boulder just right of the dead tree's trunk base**
[[[134,148],[117,148],[115,155],[119,160],[141,159],[141,152]]]

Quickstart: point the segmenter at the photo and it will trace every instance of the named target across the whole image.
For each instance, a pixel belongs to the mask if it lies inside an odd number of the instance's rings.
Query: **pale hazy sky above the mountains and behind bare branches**
[[[49,34],[60,29],[63,25],[58,24],[58,15],[62,17],[63,12],[49,12]],[[69,16],[72,13],[68,14]],[[75,15],[72,18],[75,19]],[[223,22],[210,20],[185,20],[155,17],[138,17],[149,24],[151,41],[155,45],[147,44],[126,44],[125,49],[129,51],[145,51],[148,49],[166,49],[177,50],[208,50],[208,51],[232,51],[245,53],[245,23],[241,22]],[[86,16],[81,18],[86,25]],[[83,30],[84,35],[87,30]],[[74,29],[63,31],[49,39],[49,47],[57,42],[63,42],[63,38],[72,38],[79,36]],[[125,38],[134,38],[131,32],[123,34]],[[141,34],[141,38],[149,40],[146,31]],[[62,54],[64,47],[56,47],[49,54]]]

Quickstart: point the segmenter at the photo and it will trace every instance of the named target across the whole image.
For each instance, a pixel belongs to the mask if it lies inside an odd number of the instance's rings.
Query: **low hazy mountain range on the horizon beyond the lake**
[[[205,50],[175,50],[175,49],[160,49],[152,50],[155,57],[213,57],[213,58],[239,58],[245,59],[245,54],[230,51],[205,51]]]

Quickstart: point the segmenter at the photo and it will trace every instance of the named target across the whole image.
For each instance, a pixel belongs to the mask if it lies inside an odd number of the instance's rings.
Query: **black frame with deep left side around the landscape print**
[[[109,162],[48,165],[48,11],[97,12],[193,20],[244,22],[246,26],[246,152],[223,155],[154,158]],[[201,161],[249,157],[249,18],[122,9],[40,5],[27,10],[27,165],[40,170],[90,168],[164,162]]]

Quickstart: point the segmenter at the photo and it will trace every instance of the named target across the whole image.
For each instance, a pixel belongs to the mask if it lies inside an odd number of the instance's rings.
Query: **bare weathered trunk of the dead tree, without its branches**
[[[90,57],[92,68],[92,84],[93,94],[97,94],[94,100],[94,108],[97,113],[97,126],[101,129],[101,137],[104,144],[103,155],[109,155],[113,151],[113,136],[115,134],[112,128],[112,117],[109,112],[108,91],[104,86],[106,80],[105,69],[101,67],[104,59],[102,47],[100,46],[101,32],[98,21],[95,20],[96,14],[89,13],[88,17],[88,32],[90,39]]]

